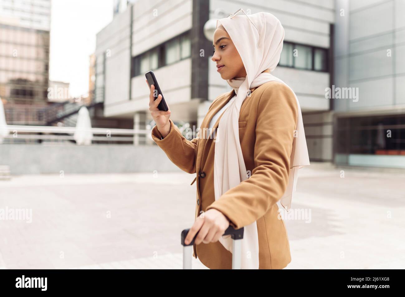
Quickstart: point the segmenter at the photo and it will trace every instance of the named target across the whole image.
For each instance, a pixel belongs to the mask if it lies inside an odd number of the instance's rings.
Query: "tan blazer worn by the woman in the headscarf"
[[[266,82],[251,91],[239,113],[239,138],[249,178],[225,192],[217,201],[213,182],[215,141],[212,133],[209,138],[202,132],[203,128],[209,127],[214,114],[232,98],[234,90],[212,102],[198,137],[191,141],[186,139],[169,119],[170,133],[161,139],[162,135],[155,126],[152,138],[180,169],[197,173],[194,179],[197,181],[195,217],[214,208],[221,211],[236,229],[257,221],[259,269],[282,269],[291,262],[291,254],[286,227],[283,220],[278,219],[276,202],[288,184],[298,106],[294,94],[280,82]],[[220,118],[213,129],[218,127]],[[194,244],[193,256],[211,269],[232,268],[232,253],[219,241]]]

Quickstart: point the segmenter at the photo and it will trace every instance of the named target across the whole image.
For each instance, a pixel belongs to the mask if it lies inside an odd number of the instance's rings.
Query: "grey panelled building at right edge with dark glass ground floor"
[[[405,169],[404,15],[403,0],[337,1],[336,164]]]

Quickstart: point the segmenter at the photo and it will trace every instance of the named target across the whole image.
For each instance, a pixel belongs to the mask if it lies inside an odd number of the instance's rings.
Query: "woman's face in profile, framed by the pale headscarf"
[[[222,79],[229,80],[238,77],[246,77],[246,70],[241,56],[225,30],[215,30],[213,47],[215,52],[211,60],[214,61],[217,66],[224,65],[220,67],[219,70],[217,68]]]

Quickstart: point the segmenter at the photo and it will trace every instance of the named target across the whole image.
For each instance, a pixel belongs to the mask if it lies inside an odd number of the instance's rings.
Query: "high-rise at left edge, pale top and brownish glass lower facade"
[[[49,80],[50,0],[0,0],[0,97],[45,105]]]

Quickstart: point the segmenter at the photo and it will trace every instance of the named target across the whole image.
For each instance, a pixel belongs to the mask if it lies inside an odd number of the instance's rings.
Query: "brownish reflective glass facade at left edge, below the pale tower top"
[[[5,103],[47,101],[49,31],[0,24],[0,97]]]

